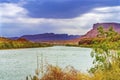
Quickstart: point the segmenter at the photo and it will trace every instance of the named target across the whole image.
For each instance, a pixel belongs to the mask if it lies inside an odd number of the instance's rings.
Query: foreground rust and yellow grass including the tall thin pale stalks
[[[41,60],[37,56],[35,75],[26,77],[26,80],[120,80],[120,58],[117,57],[112,60],[109,69],[98,67],[94,73],[81,73],[72,66],[65,68],[60,68],[57,65],[44,66],[43,55],[41,54]]]

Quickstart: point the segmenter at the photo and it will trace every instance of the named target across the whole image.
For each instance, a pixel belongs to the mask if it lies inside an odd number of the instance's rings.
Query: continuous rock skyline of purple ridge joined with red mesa
[[[85,35],[68,35],[68,34],[55,34],[55,33],[44,33],[44,34],[35,34],[35,35],[23,35],[18,38],[24,38],[33,42],[48,42],[53,44],[78,44],[83,38],[95,38],[98,34],[97,28],[103,26],[105,30],[108,30],[109,27],[120,34],[120,23],[96,23],[93,24],[93,28],[88,31]],[[14,37],[12,39],[17,39]]]

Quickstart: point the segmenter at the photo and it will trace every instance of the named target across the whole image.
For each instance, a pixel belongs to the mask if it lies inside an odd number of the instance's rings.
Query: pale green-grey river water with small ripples
[[[65,46],[0,50],[0,80],[25,80],[26,76],[33,75],[37,68],[37,56],[38,63],[43,60],[43,64],[62,68],[70,65],[87,72],[92,66],[90,52],[90,48]]]

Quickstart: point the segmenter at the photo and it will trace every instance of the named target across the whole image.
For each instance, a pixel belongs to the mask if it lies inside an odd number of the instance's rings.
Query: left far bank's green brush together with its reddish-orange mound
[[[36,43],[28,41],[24,38],[17,40],[11,40],[8,38],[0,38],[0,49],[16,49],[16,48],[34,48],[34,47],[48,47],[51,44],[46,43]]]

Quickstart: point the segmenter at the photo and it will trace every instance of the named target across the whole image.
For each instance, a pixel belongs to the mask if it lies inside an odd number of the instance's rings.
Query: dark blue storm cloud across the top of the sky
[[[45,0],[29,2],[24,7],[35,18],[74,18],[94,7],[116,6],[119,0]]]

